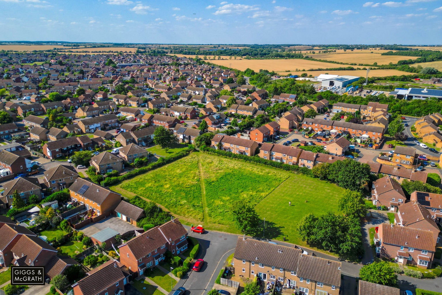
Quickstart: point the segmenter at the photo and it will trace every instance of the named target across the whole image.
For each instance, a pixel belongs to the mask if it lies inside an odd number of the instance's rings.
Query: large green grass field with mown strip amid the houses
[[[231,205],[244,198],[266,218],[267,238],[286,236],[299,245],[305,243],[297,237],[298,221],[308,212],[337,211],[343,193],[311,177],[197,152],[111,189],[154,201],[184,223],[234,234],[240,232],[232,226]]]

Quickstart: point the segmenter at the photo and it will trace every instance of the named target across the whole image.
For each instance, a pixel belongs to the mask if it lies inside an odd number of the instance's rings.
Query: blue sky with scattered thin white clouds
[[[442,0],[0,0],[0,40],[442,44]]]

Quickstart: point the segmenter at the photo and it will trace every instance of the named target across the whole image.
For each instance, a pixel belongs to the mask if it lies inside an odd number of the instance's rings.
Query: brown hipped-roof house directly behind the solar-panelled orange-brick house
[[[51,188],[54,192],[69,188],[69,186],[78,178],[78,173],[74,167],[67,165],[57,165],[44,172],[45,178],[43,184]]]

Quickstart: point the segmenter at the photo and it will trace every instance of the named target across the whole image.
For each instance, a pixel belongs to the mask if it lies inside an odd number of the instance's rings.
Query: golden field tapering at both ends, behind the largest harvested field
[[[381,55],[380,53],[326,53],[315,54],[312,57],[317,59],[325,59],[328,61],[339,61],[348,64],[369,64],[372,65],[377,62],[378,65],[388,65],[390,62],[396,63],[404,59],[416,59],[415,56],[400,56],[400,55]]]

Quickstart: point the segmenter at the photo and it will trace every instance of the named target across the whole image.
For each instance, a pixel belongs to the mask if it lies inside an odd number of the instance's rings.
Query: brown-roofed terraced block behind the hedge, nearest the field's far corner
[[[213,136],[211,147],[241,155],[254,156],[258,148],[258,142],[220,133]]]

